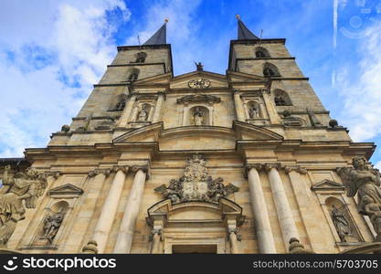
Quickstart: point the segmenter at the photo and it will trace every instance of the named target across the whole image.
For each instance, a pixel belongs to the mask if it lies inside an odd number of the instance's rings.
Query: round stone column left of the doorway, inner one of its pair
[[[121,228],[118,233],[114,253],[130,253],[135,230],[136,219],[139,214],[140,205],[143,198],[145,178],[147,176],[146,167],[133,167],[136,171],[133,179],[130,195],[124,208]]]

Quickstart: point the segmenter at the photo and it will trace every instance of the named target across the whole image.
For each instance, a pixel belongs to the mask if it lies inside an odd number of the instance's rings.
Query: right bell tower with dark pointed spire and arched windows
[[[291,56],[286,39],[263,39],[238,19],[238,39],[230,41],[228,70],[253,74],[270,80],[270,98],[280,119],[271,123],[322,127],[329,112],[316,96],[309,79]]]

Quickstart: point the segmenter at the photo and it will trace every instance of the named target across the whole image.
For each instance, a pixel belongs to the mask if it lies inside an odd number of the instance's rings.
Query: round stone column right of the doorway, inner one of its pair
[[[269,213],[267,211],[265,196],[260,184],[260,164],[248,166],[250,202],[253,209],[256,233],[260,253],[276,253],[274,238],[272,237]]]

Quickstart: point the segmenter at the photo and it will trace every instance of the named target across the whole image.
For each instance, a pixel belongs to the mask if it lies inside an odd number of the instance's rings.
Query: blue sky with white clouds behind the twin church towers
[[[70,123],[119,45],[169,18],[175,75],[225,73],[236,15],[255,34],[285,37],[331,116],[355,142],[381,143],[381,1],[2,0],[0,157],[44,147]],[[381,167],[376,150],[373,163]]]

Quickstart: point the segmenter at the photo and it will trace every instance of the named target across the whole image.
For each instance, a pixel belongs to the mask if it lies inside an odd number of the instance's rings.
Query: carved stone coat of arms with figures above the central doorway
[[[206,159],[200,154],[195,154],[186,160],[185,173],[180,179],[172,179],[169,185],[162,184],[154,189],[155,192],[171,199],[172,204],[201,201],[218,204],[220,197],[238,191],[234,184],[223,184],[223,179],[213,179],[208,175]]]

